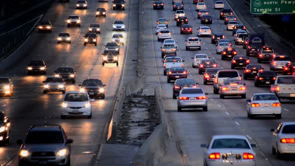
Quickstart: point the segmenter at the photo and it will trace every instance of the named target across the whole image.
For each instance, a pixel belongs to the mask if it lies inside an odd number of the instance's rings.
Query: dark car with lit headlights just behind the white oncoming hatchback
[[[90,97],[100,97],[104,99],[104,86],[100,79],[84,79],[82,84],[79,84],[81,91],[87,91]]]

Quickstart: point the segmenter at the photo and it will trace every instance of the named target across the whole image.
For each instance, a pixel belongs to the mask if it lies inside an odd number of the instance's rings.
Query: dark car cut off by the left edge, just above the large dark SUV
[[[10,120],[0,111],[0,143],[8,144],[10,139]]]

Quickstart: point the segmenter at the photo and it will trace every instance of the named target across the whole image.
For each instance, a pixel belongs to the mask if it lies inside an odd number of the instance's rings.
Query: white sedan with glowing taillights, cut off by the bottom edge
[[[213,135],[204,147],[203,163],[206,166],[220,165],[255,165],[256,144],[250,144],[244,135]]]

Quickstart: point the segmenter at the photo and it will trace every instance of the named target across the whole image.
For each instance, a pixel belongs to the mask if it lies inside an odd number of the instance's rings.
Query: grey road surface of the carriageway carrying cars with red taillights
[[[281,121],[292,121],[295,118],[293,102],[283,100],[282,118],[273,119],[270,117],[258,117],[248,119],[246,114],[245,99],[230,97],[220,99],[218,94],[213,94],[212,85],[203,85],[203,75],[198,74],[197,68],[192,68],[191,57],[195,53],[206,53],[211,58],[217,60],[218,65],[224,69],[230,69],[229,60],[221,60],[220,55],[215,53],[215,45],[211,44],[210,37],[201,37],[201,50],[185,50],[184,40],[188,36],[196,36],[196,27],[201,26],[200,20],[197,19],[195,5],[192,0],[183,0],[184,10],[188,17],[188,23],[193,26],[193,34],[180,34],[179,27],[174,21],[174,12],[172,11],[172,0],[163,0],[164,10],[153,10],[152,0],[143,4],[143,19],[146,20],[143,26],[145,43],[144,66],[146,83],[152,84],[154,87],[159,86],[162,90],[163,105],[167,119],[169,121],[170,132],[173,140],[180,141],[184,157],[187,157],[187,165],[202,165],[201,143],[208,143],[210,137],[214,134],[243,134],[248,137],[252,143],[258,145],[255,148],[256,165],[293,165],[292,159],[276,159],[271,154],[271,135],[270,128],[275,128]],[[223,20],[219,19],[219,10],[213,9],[214,0],[205,0],[207,9],[213,17],[213,23],[208,26],[212,32],[223,32],[226,37],[233,40],[231,31],[226,30]],[[225,3],[225,8],[228,4]],[[167,83],[166,76],[163,75],[163,67],[160,56],[160,42],[154,34],[157,18],[168,18],[168,29],[171,30],[172,38],[178,41],[177,55],[185,60],[185,68],[188,69],[188,77],[194,78],[199,82],[200,87],[208,92],[208,112],[189,110],[177,112],[177,102],[172,99],[172,83]],[[207,26],[207,25],[204,25]],[[267,42],[267,41],[266,41]],[[245,49],[241,45],[234,45],[239,55],[245,55]],[[277,52],[279,53],[279,52]],[[293,59],[294,60],[294,59]],[[251,64],[257,64],[256,57],[250,57]],[[261,64],[265,70],[269,69],[269,64]],[[238,69],[239,73],[243,70]],[[243,80],[246,83],[249,98],[253,93],[269,92],[269,87],[255,87],[253,80]],[[169,164],[172,164],[173,158],[170,157]],[[179,162],[179,161],[178,161]],[[165,164],[163,164],[165,165]]]

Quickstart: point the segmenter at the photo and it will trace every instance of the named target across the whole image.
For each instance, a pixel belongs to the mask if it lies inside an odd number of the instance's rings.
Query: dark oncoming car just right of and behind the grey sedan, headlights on
[[[76,82],[76,71],[72,67],[58,67],[54,73],[56,77],[62,77],[65,82]]]

